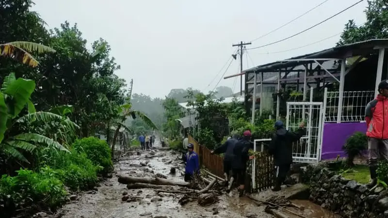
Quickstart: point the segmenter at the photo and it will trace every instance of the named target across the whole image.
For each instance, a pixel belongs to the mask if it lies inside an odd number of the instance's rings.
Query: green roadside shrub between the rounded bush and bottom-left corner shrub
[[[42,173],[55,175],[72,190],[96,186],[97,172],[101,171],[102,167],[95,166],[85,153],[65,153],[53,149],[44,149],[41,153],[39,171]],[[52,169],[55,169],[55,172]]]

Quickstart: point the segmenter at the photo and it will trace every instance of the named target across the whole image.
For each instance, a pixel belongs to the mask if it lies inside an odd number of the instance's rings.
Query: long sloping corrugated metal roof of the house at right
[[[342,59],[342,58],[354,57],[358,55],[370,55],[372,53],[377,53],[377,51],[374,49],[374,47],[376,46],[387,47],[388,39],[369,39],[361,42],[355,42],[351,44],[324,49],[322,51],[318,51],[314,53],[292,57],[286,60],[317,59],[317,58]],[[349,52],[352,52],[352,54],[350,54]],[[253,71],[274,72],[275,70],[278,70],[281,68],[294,67],[294,66],[309,63],[309,62],[285,62],[286,60],[262,64],[256,67],[243,70],[242,73],[252,73]]]

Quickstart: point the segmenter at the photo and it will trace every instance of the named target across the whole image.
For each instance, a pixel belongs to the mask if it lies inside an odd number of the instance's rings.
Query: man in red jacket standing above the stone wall
[[[365,121],[368,126],[369,170],[371,172],[370,187],[377,184],[377,161],[388,160],[388,80],[378,86],[379,94],[368,103],[365,109]]]

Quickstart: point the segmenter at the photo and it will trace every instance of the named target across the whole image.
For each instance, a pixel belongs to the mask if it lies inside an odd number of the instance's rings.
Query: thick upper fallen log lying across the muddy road
[[[133,176],[124,176],[120,175],[118,177],[118,182],[121,184],[132,184],[132,183],[146,183],[151,185],[162,185],[162,186],[182,186],[189,187],[190,183],[188,182],[175,182],[168,179],[162,178],[141,178],[141,177],[133,177]]]

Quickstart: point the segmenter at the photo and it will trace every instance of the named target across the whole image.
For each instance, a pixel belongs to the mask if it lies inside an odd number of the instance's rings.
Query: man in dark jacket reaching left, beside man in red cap
[[[225,153],[224,155],[224,176],[225,176],[225,186],[228,186],[229,183],[229,175],[230,171],[232,170],[232,161],[233,161],[233,148],[236,145],[236,143],[239,141],[237,140],[239,137],[237,135],[233,135],[233,138],[226,140],[226,142],[221,145],[220,147],[216,148],[214,151],[211,152],[211,154],[221,154]],[[233,181],[232,181],[233,182]]]

